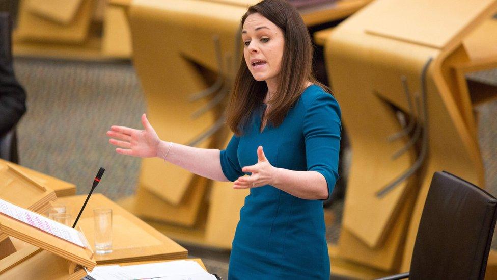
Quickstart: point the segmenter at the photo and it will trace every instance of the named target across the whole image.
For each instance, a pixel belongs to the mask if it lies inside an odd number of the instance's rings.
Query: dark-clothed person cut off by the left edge
[[[26,93],[12,65],[12,22],[0,12],[0,158],[18,163],[15,126],[26,112]]]

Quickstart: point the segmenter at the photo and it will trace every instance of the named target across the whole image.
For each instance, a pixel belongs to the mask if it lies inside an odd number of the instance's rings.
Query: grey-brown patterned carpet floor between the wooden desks
[[[113,124],[141,128],[146,104],[133,66],[27,58],[16,58],[14,66],[27,91],[28,111],[18,125],[21,164],[76,184],[78,194],[88,193],[102,166],[107,171],[96,192],[114,200],[132,194],[140,159],[116,154],[105,132]],[[468,78],[497,84],[497,69]],[[497,101],[476,110],[485,187],[497,195]],[[333,206],[337,219],[326,234],[332,243],[339,238],[342,209],[341,202]],[[226,278],[229,252],[184,245],[190,257]]]

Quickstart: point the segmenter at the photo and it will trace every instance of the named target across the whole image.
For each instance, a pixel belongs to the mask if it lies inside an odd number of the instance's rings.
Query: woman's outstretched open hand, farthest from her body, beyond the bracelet
[[[112,137],[109,139],[109,143],[119,147],[116,148],[118,154],[142,158],[157,156],[161,141],[145,114],[142,115],[142,124],[145,130],[130,129],[126,126],[111,126],[111,130],[107,131],[107,136]]]

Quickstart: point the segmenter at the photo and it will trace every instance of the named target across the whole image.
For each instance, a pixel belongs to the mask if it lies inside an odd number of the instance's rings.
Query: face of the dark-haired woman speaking
[[[243,56],[254,79],[277,83],[285,46],[283,31],[255,13],[247,16],[243,23],[242,40]]]

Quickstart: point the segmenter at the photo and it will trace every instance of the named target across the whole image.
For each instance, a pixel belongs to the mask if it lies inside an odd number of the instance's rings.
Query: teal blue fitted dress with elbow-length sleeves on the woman
[[[233,136],[220,162],[227,179],[244,175],[257,163],[262,145],[269,163],[290,170],[313,170],[331,193],[338,179],[340,107],[321,87],[301,94],[283,123],[260,132],[261,110],[240,137]],[[248,173],[246,173],[248,174]],[[270,185],[252,188],[240,210],[232,243],[229,280],[329,279],[323,201],[295,197]]]

